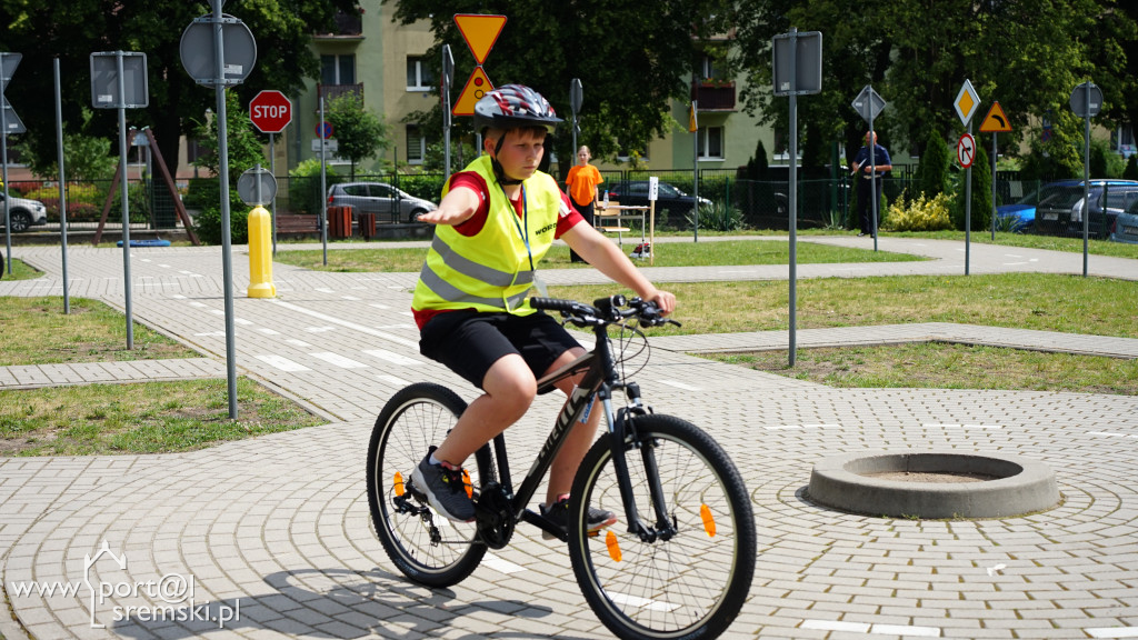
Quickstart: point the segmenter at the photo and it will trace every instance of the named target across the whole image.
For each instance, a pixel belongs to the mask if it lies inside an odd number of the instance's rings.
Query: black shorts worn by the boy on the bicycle
[[[521,355],[541,378],[562,353],[580,344],[538,311],[529,315],[473,310],[447,311],[431,318],[419,336],[419,352],[446,364],[483,388],[490,366],[511,353]]]

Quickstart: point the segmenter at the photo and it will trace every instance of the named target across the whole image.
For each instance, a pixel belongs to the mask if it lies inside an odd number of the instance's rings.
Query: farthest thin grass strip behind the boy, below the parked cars
[[[640,243],[626,236],[625,251],[632,252]],[[668,243],[657,246],[653,266],[724,266],[733,264],[787,264],[790,246],[782,241],[724,240],[716,243]],[[353,248],[329,249],[328,265],[323,264],[322,252],[281,251],[277,262],[303,266],[316,271],[370,271],[370,272],[418,272],[427,255],[426,248]],[[905,262],[924,257],[861,248],[833,247],[803,243],[798,246],[800,263],[847,263],[847,262]],[[542,269],[592,269],[583,263],[569,261],[569,247],[554,245],[542,260]]]

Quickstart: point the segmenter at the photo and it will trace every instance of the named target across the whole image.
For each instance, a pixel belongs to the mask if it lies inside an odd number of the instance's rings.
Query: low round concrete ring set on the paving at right
[[[1006,518],[1059,503],[1055,474],[1042,462],[958,451],[825,458],[807,491],[826,507],[898,518]]]

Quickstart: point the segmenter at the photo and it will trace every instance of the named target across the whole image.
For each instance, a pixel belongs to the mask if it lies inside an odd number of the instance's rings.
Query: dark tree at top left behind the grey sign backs
[[[189,134],[191,118],[216,108],[212,88],[199,87],[182,67],[182,32],[208,13],[208,3],[184,0],[22,0],[0,3],[0,49],[24,58],[8,85],[6,97],[28,131],[55,131],[55,113],[43,108],[55,96],[52,60],[59,58],[63,118],[67,132],[116,140],[115,109],[96,109],[84,122],[82,109],[91,106],[90,56],[94,51],[141,51],[147,55],[149,107],[127,110],[131,125],[150,126],[176,172],[179,137]],[[308,54],[314,31],[331,31],[337,10],[358,11],[357,0],[244,0],[230,2],[225,13],[248,25],[259,58],[249,77],[234,90],[248,104],[262,89],[286,93],[299,91],[306,77],[318,77],[319,60]],[[272,56],[266,51],[287,51]],[[53,134],[36,134],[30,141],[41,157],[51,156]]]

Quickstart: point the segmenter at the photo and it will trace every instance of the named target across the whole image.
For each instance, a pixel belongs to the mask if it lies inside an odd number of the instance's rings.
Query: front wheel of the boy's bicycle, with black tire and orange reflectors
[[[750,497],[734,463],[711,436],[671,416],[636,417],[626,460],[641,518],[655,524],[642,446],[652,446],[668,510],[670,540],[644,542],[618,522],[589,536],[588,507],[625,519],[609,437],[599,440],[574,481],[569,558],[589,607],[625,640],[716,638],[739,615],[754,575]],[[616,552],[612,549],[616,549]]]

